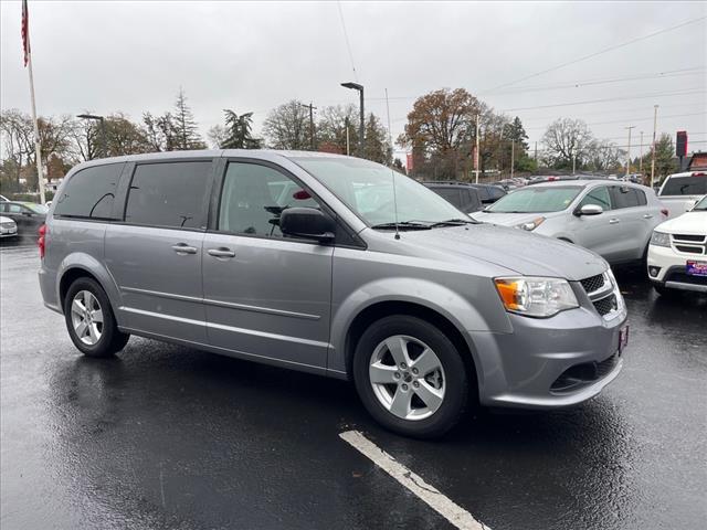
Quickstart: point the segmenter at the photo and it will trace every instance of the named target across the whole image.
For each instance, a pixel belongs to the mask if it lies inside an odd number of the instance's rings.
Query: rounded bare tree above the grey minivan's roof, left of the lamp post
[[[309,149],[309,112],[296,99],[279,105],[267,114],[263,131],[274,149]]]

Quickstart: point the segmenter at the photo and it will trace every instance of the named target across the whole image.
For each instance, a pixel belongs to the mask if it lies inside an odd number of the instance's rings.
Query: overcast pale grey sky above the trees
[[[29,112],[20,13],[19,1],[0,3],[0,105]],[[339,86],[357,80],[367,110],[383,123],[388,88],[393,137],[416,96],[464,87],[518,115],[531,142],[567,116],[618,145],[634,125],[632,144],[641,130],[647,144],[657,104],[659,131],[687,130],[690,150],[707,150],[705,17],[707,2],[677,1],[30,0],[41,115],[122,110],[139,119],[169,110],[181,86],[202,132],[221,123],[223,108],[253,110],[260,129],[268,109],[292,98],[357,104]],[[688,21],[696,22],[493,89]],[[610,100],[563,105],[597,99]]]

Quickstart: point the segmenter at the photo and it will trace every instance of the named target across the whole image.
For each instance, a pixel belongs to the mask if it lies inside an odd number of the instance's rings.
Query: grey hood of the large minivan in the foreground
[[[524,276],[579,280],[609,268],[601,256],[581,246],[492,224],[409,231],[401,241],[412,245],[418,255],[433,251],[454,261],[478,259]]]

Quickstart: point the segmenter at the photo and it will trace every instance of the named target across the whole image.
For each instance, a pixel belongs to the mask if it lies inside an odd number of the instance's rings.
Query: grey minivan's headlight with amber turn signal
[[[496,278],[496,289],[506,310],[529,317],[551,317],[579,307],[572,287],[560,278]]]

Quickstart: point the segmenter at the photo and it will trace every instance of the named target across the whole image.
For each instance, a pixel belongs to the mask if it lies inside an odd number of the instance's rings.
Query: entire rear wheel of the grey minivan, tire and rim
[[[64,319],[72,342],[88,357],[110,357],[130,338],[118,330],[108,296],[92,278],[71,284],[64,298]]]

